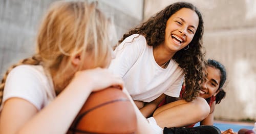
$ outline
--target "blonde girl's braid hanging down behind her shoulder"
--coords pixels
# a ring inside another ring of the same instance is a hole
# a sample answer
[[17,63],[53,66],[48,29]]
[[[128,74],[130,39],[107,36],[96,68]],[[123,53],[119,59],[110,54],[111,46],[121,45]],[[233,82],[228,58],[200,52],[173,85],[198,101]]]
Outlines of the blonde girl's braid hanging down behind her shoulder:
[[6,71],[6,73],[3,76],[2,82],[0,84],[0,106],[1,106],[2,100],[3,100],[3,93],[4,93],[6,78],[7,78],[8,74],[11,72],[11,70],[14,69],[18,65],[22,65],[22,64],[38,65],[40,62],[41,62],[40,56],[39,55],[34,55],[30,58],[20,60],[17,64],[12,65]]

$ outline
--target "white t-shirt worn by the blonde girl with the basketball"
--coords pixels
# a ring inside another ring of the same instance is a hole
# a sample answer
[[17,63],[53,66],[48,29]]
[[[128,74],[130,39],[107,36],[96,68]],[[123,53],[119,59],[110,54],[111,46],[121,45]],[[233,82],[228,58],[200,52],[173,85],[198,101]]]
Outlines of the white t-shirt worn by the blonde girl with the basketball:
[[52,79],[41,65],[18,65],[7,76],[0,110],[3,103],[13,97],[25,99],[41,110],[56,95]]

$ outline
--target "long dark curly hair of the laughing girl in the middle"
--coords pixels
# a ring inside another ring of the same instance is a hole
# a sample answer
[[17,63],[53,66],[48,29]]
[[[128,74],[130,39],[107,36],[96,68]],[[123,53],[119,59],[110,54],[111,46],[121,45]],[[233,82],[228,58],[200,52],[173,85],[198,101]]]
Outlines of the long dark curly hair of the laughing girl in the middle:
[[201,89],[200,83],[204,79],[205,57],[202,52],[203,19],[198,9],[190,3],[178,2],[167,6],[155,16],[149,18],[137,28],[123,35],[119,43],[132,34],[140,34],[146,38],[148,46],[159,46],[164,41],[166,22],[170,16],[182,8],[188,8],[195,11],[199,17],[199,24],[193,40],[188,44],[188,50],[176,52],[173,59],[179,63],[179,66],[185,72],[185,92],[183,93],[186,101],[196,99]]

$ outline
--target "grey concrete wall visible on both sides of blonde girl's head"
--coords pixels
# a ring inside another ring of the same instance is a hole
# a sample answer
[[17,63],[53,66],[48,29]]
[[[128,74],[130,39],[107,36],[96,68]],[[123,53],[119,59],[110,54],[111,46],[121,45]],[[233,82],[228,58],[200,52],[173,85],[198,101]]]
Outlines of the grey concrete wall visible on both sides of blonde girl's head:
[[[52,2],[0,0],[0,78],[10,65],[34,53],[40,19]],[[98,4],[114,20],[117,39],[142,19],[143,0],[99,0]]]

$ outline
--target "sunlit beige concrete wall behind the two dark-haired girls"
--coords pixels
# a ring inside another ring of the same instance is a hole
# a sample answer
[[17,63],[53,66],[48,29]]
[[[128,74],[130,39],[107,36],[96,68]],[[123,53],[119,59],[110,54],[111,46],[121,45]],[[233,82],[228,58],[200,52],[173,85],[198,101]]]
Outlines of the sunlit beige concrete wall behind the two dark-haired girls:
[[[145,19],[176,0],[145,0]],[[206,57],[226,66],[226,98],[215,118],[256,120],[256,1],[190,0],[203,15]]]

